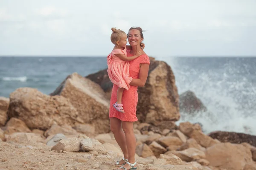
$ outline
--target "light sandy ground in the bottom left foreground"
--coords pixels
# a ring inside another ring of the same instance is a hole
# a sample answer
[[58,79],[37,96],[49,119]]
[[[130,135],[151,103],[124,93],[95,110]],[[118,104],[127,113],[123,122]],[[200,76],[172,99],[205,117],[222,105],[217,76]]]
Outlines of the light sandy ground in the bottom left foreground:
[[57,153],[36,143],[0,142],[0,170],[112,170],[113,156],[86,152]]

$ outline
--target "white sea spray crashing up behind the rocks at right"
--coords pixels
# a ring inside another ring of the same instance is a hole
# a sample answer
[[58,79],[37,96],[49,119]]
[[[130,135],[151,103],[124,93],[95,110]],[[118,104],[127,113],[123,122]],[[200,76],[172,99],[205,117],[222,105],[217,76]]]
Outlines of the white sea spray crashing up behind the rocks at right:
[[[158,59],[158,58],[157,58]],[[175,61],[175,58],[161,58],[167,62],[175,74],[178,93],[191,90],[201,99],[215,119],[207,114],[186,116],[180,113],[180,122],[201,123],[205,133],[215,130],[233,131],[256,135],[255,89],[246,78],[233,80],[230,74],[236,74],[234,65],[225,65],[223,72],[212,70],[198,72]],[[244,95],[250,99],[245,100]]]

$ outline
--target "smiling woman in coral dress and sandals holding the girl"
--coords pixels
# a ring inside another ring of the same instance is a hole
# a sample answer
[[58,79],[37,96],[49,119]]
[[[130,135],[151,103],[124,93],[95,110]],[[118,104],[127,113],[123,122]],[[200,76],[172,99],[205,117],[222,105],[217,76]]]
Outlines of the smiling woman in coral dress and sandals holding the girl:
[[125,90],[122,96],[125,113],[120,113],[113,108],[113,104],[116,102],[116,91],[118,88],[118,86],[113,85],[109,117],[111,131],[124,154],[123,159],[117,161],[116,165],[122,165],[119,167],[121,170],[137,170],[137,164],[135,162],[136,138],[133,129],[133,123],[138,120],[136,116],[138,102],[137,88],[138,86],[143,87],[145,85],[150,62],[149,57],[141,49],[141,43],[144,39],[142,29],[140,27],[131,27],[127,37],[131,45],[131,50],[127,50],[127,56],[134,56],[138,51],[141,51],[142,55],[129,62],[129,74],[133,80],[130,83],[129,90]]

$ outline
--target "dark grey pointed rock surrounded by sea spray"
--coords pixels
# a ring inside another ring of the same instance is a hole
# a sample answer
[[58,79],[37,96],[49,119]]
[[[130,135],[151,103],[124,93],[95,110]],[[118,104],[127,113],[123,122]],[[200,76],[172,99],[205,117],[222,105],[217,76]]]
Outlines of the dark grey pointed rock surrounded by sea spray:
[[180,94],[180,112],[193,114],[200,111],[206,112],[207,108],[201,100],[195,96],[195,93],[186,91],[183,94]]

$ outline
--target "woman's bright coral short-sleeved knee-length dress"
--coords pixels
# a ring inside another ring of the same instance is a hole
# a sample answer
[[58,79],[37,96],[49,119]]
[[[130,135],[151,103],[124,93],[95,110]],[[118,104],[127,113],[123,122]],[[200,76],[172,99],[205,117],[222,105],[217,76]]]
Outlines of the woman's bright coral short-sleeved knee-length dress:
[[[131,50],[127,50],[127,57],[131,57],[130,54]],[[132,60],[129,62],[129,74],[133,79],[139,78],[139,72],[140,72],[140,64],[150,64],[149,57],[146,54],[141,55],[140,57]],[[116,102],[116,92],[117,92],[117,85],[113,85],[112,88],[112,94],[110,99],[110,108],[109,108],[109,117],[116,117],[117,119],[120,119],[121,121],[125,122],[135,122],[138,120],[136,116],[137,111],[137,102],[138,102],[138,87],[137,86],[130,86],[129,90],[124,90],[122,95],[122,104],[124,105],[124,111],[125,113],[121,113],[116,111],[116,109],[113,107],[113,104]]]

